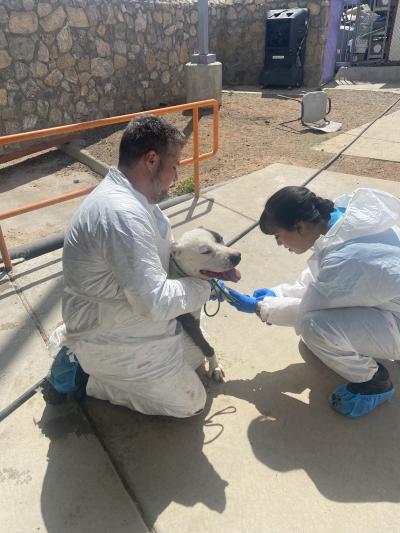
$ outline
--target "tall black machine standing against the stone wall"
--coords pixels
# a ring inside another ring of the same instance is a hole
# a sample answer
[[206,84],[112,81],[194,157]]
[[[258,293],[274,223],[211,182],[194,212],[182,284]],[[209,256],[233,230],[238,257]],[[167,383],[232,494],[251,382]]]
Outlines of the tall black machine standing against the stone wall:
[[308,9],[268,11],[263,87],[300,87],[303,83]]

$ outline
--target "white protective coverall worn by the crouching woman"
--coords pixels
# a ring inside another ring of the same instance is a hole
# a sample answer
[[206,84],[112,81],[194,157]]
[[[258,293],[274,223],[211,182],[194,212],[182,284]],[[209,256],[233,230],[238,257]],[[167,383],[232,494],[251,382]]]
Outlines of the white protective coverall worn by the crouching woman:
[[378,359],[400,359],[400,200],[358,189],[314,245],[294,285],[273,287],[261,320],[293,326],[308,348],[345,379],[361,383]]

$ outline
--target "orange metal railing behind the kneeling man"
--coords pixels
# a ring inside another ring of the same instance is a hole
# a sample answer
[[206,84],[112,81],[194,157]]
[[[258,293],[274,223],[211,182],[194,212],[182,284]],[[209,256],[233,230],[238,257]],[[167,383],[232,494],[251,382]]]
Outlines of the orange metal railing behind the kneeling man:
[[[199,142],[199,109],[202,107],[212,107],[213,109],[213,146],[212,150],[204,154],[200,154],[200,142]],[[149,111],[141,111],[139,113],[130,113],[128,115],[119,115],[116,117],[101,118],[98,120],[90,120],[88,122],[80,122],[77,124],[67,124],[66,126],[56,126],[54,128],[46,128],[37,131],[27,131],[24,133],[15,133],[13,135],[4,135],[0,137],[0,145],[12,144],[16,142],[31,141],[34,139],[41,139],[44,137],[50,137],[53,135],[67,134],[78,131],[85,131],[94,128],[101,128],[103,126],[110,126],[112,124],[122,124],[129,122],[130,120],[141,115],[168,115],[170,113],[179,113],[182,111],[192,110],[193,117],[193,155],[187,159],[183,159],[180,164],[188,165],[193,164],[194,173],[194,194],[198,198],[200,194],[200,161],[209,159],[218,152],[218,127],[219,127],[219,112],[217,100],[201,100],[200,102],[190,102],[188,104],[181,104],[177,106],[164,107],[161,109],[151,109]],[[29,211],[36,211],[44,207],[55,205],[61,202],[72,200],[89,194],[94,187],[86,187],[77,191],[69,192],[49,198],[48,200],[41,200],[32,204],[23,205],[14,209],[0,212],[0,220],[22,215]],[[12,269],[12,263],[10,254],[8,252],[7,244],[4,238],[3,231],[0,226],[0,253],[3,258],[4,267],[7,271]]]

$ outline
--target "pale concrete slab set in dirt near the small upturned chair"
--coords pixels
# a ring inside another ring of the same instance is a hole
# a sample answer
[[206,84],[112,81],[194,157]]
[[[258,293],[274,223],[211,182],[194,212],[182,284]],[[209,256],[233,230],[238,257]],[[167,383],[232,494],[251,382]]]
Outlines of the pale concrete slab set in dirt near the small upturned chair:
[[[346,131],[314,147],[315,150],[336,154],[354,140],[368,124]],[[368,157],[385,161],[400,162],[400,111],[382,117],[375,122],[346,151],[346,155]]]

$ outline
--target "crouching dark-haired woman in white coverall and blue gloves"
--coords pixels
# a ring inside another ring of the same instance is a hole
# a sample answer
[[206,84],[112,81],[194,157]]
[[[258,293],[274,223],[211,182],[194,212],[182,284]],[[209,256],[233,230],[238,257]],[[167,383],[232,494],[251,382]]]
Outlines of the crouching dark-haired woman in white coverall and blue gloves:
[[335,202],[305,187],[285,187],[265,205],[260,228],[279,246],[313,249],[294,285],[229,290],[239,311],[293,326],[328,367],[348,380],[331,395],[336,411],[369,413],[394,394],[387,369],[400,359],[400,200],[358,189]]

